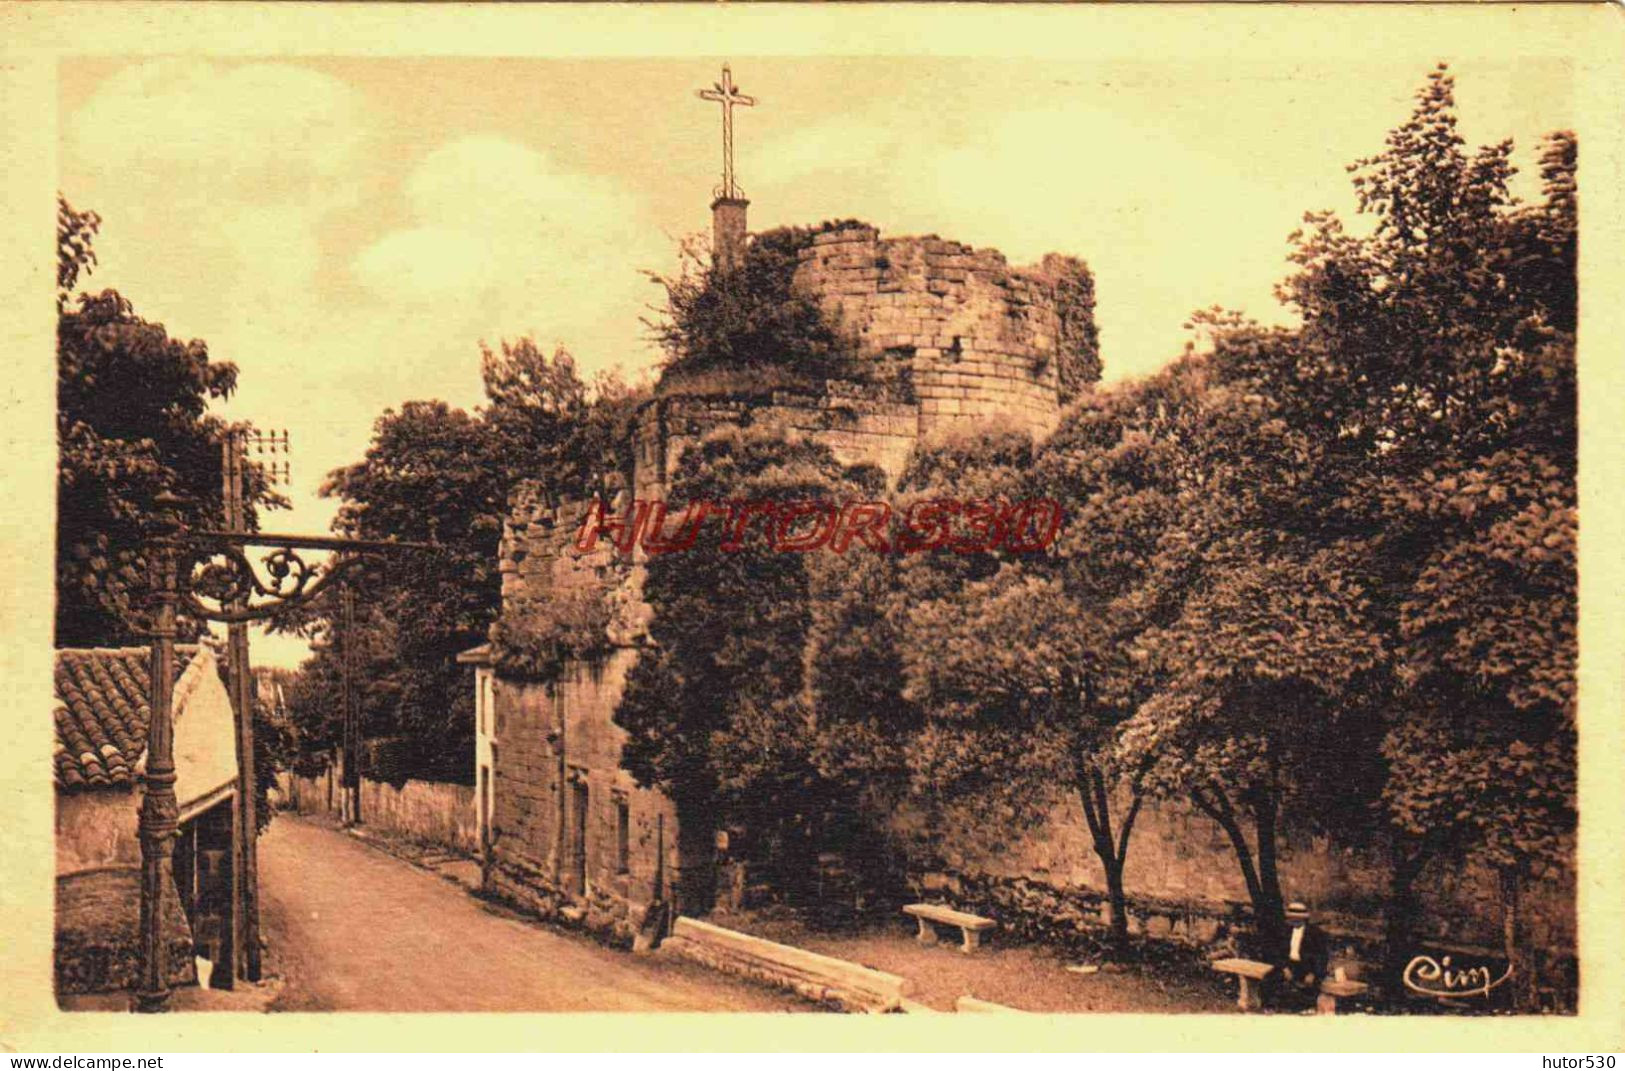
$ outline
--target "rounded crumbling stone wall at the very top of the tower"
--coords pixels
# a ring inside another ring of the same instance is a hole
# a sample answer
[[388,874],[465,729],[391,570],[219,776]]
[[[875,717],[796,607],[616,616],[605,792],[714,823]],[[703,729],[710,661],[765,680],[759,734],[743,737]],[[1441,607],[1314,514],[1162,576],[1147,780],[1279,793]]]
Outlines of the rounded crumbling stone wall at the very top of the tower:
[[962,416],[1045,432],[1060,419],[1061,320],[1042,270],[1011,268],[996,249],[848,226],[801,250],[793,284],[856,340],[860,359],[908,367],[921,432]]

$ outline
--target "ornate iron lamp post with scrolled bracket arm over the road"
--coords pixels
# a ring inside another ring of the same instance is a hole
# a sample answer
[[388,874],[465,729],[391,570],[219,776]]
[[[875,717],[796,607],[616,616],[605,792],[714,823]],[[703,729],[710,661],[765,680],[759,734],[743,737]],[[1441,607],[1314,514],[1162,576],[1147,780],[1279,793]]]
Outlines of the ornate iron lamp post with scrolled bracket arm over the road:
[[[367,557],[385,551],[436,549],[427,543],[344,540],[268,531],[187,531],[179,520],[182,499],[162,492],[148,544],[153,579],[153,663],[146,728],[146,788],[140,811],[141,840],[141,965],[136,1011],[162,1011],[169,1003],[169,949],[164,946],[164,892],[174,884],[174,847],[179,830],[174,757],[176,618],[247,624],[310,603],[328,585]],[[268,548],[262,579],[244,548]],[[333,551],[310,564],[299,551]],[[197,575],[208,567],[206,593]],[[252,790],[250,790],[252,791]],[[252,811],[250,811],[252,813]],[[250,835],[242,830],[242,835]]]

